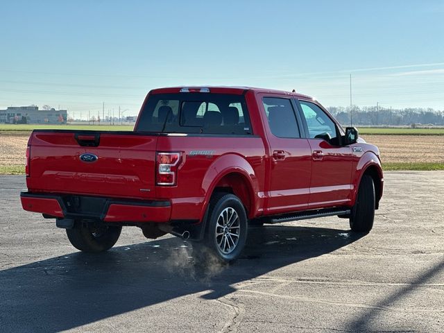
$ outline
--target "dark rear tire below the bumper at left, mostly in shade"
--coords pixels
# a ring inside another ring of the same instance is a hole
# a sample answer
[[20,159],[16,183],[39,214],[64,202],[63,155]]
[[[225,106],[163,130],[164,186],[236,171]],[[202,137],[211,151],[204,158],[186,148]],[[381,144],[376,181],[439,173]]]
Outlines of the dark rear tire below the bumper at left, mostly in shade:
[[76,221],[74,228],[67,229],[67,236],[74,248],[88,253],[109,250],[119,239],[121,226],[92,225]]

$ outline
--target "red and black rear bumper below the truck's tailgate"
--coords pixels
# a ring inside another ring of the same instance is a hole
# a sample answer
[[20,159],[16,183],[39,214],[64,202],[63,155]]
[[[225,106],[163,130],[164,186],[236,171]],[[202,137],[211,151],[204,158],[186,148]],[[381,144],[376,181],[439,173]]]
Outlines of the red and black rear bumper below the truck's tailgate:
[[168,200],[122,200],[92,196],[20,194],[28,212],[65,219],[93,219],[104,222],[165,223],[171,219]]

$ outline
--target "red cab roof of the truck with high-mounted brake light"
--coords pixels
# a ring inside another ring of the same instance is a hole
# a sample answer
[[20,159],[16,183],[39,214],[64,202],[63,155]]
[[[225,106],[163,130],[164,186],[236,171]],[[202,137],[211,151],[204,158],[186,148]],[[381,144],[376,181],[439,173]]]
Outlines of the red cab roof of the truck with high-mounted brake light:
[[178,94],[179,92],[188,92],[187,89],[189,89],[189,92],[210,92],[210,93],[212,92],[216,94],[236,94],[236,95],[241,95],[245,94],[248,91],[253,91],[253,92],[264,92],[269,94],[285,94],[289,96],[302,97],[304,99],[313,99],[311,96],[300,94],[298,92],[286,92],[284,90],[266,89],[258,87],[222,86],[222,85],[164,87],[164,88],[152,89],[150,94]]

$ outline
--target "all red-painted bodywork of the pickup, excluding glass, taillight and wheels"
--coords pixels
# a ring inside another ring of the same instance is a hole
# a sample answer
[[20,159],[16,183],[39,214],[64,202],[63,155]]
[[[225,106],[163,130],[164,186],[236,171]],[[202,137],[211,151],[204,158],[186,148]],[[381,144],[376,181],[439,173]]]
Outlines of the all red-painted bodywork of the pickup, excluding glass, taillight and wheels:
[[[176,94],[180,89],[152,90],[144,103],[150,94]],[[379,200],[383,176],[377,147],[364,143],[338,147],[322,139],[279,138],[271,133],[262,97],[307,100],[308,96],[249,87],[210,87],[210,93],[244,94],[253,135],[35,131],[28,143],[28,190],[36,194],[168,201],[169,207],[113,203],[104,217],[104,221],[117,223],[165,223],[202,221],[214,189],[229,187],[241,198],[248,217],[255,218],[351,207],[362,175],[375,168]],[[97,146],[80,146],[78,142],[96,137],[100,139]],[[354,146],[361,147],[362,152],[355,152]],[[324,153],[322,160],[313,157],[318,150]],[[273,157],[274,151],[282,151],[284,158]],[[176,185],[155,185],[156,152],[181,153]],[[98,159],[90,163],[80,160],[85,153]],[[56,199],[22,198],[22,205],[25,210],[63,217]]]

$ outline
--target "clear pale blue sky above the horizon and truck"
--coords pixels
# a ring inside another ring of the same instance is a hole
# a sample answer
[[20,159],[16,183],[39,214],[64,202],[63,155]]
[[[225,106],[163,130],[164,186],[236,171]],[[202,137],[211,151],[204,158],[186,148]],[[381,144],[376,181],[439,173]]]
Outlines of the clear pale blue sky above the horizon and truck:
[[[149,89],[444,110],[444,1],[2,1],[0,108],[137,114]],[[86,114],[84,112],[84,114]]]

